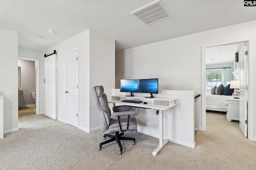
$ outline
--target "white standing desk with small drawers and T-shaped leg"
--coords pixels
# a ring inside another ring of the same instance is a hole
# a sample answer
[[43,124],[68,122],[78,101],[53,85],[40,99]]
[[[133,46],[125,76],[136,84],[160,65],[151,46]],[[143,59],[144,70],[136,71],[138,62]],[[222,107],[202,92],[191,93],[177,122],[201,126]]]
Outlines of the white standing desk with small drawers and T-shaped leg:
[[[164,111],[167,109],[170,109],[171,107],[176,106],[175,100],[176,99],[170,99],[170,98],[144,98],[140,96],[134,96],[134,97],[128,97],[128,96],[110,96],[111,100],[108,100],[109,103],[115,104],[122,104],[127,106],[133,106],[133,107],[142,107],[142,108],[148,108],[148,109],[156,109],[159,111],[159,146],[152,152],[153,156],[156,156],[156,154],[164,147],[164,145],[168,142],[168,139],[164,140]],[[135,104],[135,103],[127,103],[127,102],[121,102],[122,100],[134,100],[139,99],[143,102],[147,102],[148,104]]]

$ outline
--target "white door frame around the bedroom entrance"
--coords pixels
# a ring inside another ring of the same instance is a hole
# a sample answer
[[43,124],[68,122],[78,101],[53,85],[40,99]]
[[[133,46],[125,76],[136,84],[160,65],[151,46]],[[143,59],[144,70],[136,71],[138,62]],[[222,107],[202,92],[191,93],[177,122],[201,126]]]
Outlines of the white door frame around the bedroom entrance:
[[200,130],[206,131],[206,107],[205,107],[205,49],[209,47],[216,47],[216,46],[222,46],[222,45],[228,45],[228,44],[234,44],[234,43],[242,43],[242,42],[248,42],[248,139],[250,141],[254,141],[254,71],[253,71],[253,37],[248,37],[244,39],[236,39],[232,41],[227,41],[224,43],[213,43],[210,45],[202,45],[201,49],[201,65],[202,65],[202,75],[201,75],[201,82],[202,82],[202,128]]

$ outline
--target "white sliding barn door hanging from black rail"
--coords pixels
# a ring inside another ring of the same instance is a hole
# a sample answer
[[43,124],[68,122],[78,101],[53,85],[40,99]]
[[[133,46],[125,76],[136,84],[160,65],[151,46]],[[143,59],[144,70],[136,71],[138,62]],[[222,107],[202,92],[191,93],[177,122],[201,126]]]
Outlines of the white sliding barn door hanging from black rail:
[[45,115],[56,120],[56,54],[44,58]]

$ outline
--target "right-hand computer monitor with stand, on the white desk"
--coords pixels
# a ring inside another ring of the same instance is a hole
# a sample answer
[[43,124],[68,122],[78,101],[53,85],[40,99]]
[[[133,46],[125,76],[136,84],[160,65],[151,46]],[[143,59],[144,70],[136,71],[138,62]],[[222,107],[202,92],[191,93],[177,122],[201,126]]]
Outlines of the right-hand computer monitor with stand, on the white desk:
[[158,94],[158,78],[140,79],[140,93],[150,93],[145,98],[154,98],[152,94]]

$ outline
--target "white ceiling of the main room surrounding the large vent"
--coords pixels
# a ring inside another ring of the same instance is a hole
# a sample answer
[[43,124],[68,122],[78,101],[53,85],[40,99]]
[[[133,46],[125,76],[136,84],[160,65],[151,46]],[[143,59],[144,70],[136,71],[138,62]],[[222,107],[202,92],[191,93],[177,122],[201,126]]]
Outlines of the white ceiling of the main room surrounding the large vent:
[[256,20],[256,7],[242,0],[162,0],[173,17],[150,25],[130,14],[154,1],[0,0],[0,27],[18,32],[19,47],[40,51],[91,29],[115,39],[119,51]]

